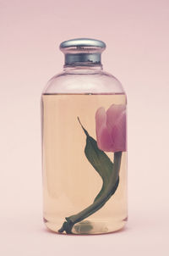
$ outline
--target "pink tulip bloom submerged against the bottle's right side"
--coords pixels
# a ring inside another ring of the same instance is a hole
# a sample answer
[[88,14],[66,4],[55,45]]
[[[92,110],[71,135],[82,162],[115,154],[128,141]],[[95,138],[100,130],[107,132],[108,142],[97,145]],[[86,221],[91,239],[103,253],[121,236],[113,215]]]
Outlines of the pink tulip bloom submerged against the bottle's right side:
[[97,109],[95,128],[98,147],[107,152],[126,151],[126,106]]

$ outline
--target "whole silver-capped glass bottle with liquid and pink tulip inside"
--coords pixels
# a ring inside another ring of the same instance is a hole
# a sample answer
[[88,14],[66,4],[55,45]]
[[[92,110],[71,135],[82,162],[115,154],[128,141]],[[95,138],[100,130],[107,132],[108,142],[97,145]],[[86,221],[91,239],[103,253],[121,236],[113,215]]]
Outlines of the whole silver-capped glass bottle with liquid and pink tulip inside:
[[63,72],[41,96],[44,222],[62,234],[103,234],[127,213],[126,94],[103,71],[106,44],[62,42]]

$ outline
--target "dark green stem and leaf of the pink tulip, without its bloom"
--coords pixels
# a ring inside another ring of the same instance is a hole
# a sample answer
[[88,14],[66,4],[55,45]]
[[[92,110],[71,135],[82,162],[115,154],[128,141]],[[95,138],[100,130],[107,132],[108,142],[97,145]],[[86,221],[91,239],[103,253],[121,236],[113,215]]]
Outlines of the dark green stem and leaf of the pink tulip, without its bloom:
[[74,214],[65,218],[67,221],[63,223],[63,226],[59,232],[66,231],[67,233],[71,233],[75,223],[85,220],[91,214],[94,214],[97,210],[101,209],[107,200],[116,192],[119,183],[119,170],[122,152],[114,153],[113,164],[106,153],[97,147],[97,142],[95,139],[89,135],[88,131],[85,130],[83,125],[81,126],[86,135],[85,156],[98,174],[101,175],[103,184],[101,191],[95,197],[94,203],[90,204],[89,207],[79,212],[79,214]]

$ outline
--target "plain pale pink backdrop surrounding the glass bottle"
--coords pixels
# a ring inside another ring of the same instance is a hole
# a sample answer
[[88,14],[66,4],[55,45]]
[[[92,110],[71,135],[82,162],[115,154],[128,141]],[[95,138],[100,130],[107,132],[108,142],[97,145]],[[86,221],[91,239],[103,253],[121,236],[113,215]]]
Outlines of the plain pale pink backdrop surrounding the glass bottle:
[[[0,19],[0,254],[169,255],[169,2],[1,0]],[[104,68],[128,92],[129,221],[112,235],[42,223],[41,91],[74,37],[106,42]]]

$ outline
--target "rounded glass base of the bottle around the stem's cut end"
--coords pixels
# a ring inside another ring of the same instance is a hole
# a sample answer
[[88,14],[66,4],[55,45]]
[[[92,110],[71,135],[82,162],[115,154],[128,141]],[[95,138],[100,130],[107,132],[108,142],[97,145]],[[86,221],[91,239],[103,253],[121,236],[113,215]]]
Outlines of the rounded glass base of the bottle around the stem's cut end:
[[[63,225],[63,223],[59,222],[51,222],[44,219],[44,222],[46,224],[46,227],[53,232],[56,232],[58,234],[64,234],[66,233],[60,233],[58,230]],[[118,220],[118,221],[111,221],[111,220],[84,220],[79,223],[76,223],[73,226],[71,235],[101,235],[101,234],[108,234],[115,231],[122,230],[124,225],[127,223],[127,218],[124,220]]]

